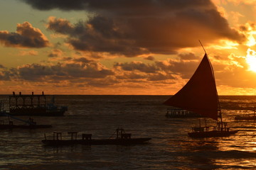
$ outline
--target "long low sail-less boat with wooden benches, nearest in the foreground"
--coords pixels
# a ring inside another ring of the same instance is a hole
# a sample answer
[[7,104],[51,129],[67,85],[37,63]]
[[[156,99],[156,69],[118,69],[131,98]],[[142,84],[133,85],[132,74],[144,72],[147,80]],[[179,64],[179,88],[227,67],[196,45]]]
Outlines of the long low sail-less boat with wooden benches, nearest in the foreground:
[[53,132],[53,139],[48,140],[45,134],[45,140],[42,140],[46,146],[63,146],[63,145],[139,145],[151,140],[149,137],[131,138],[130,133],[125,133],[124,129],[117,128],[115,139],[92,139],[92,134],[82,134],[82,139],[78,140],[78,132],[68,132],[71,135],[70,140],[62,139],[62,132]]

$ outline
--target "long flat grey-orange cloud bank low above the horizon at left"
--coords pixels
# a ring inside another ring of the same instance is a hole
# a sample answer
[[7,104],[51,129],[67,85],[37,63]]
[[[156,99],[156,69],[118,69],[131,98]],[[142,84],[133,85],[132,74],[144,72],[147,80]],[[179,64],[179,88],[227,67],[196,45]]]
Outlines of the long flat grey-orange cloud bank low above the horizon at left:
[[42,64],[25,64],[16,70],[18,79],[27,81],[71,80],[86,78],[105,78],[113,75],[110,69],[105,69],[101,64],[90,62],[80,64],[73,60],[72,63],[55,64],[46,66]]

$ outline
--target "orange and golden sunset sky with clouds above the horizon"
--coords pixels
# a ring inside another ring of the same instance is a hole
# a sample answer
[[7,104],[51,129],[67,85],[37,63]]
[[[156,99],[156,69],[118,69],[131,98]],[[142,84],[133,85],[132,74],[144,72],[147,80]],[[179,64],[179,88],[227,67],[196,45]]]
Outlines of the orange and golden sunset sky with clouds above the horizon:
[[1,0],[0,94],[172,95],[203,58],[256,95],[256,0]]

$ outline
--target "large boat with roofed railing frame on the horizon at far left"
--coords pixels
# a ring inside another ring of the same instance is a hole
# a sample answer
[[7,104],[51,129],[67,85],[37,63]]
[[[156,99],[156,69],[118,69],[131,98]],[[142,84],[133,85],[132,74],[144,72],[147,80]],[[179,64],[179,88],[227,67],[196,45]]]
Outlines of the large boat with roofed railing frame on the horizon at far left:
[[10,115],[39,115],[39,116],[63,116],[68,106],[56,106],[55,98],[47,103],[46,95],[42,92],[40,95],[23,95],[21,92],[9,96],[9,114]]

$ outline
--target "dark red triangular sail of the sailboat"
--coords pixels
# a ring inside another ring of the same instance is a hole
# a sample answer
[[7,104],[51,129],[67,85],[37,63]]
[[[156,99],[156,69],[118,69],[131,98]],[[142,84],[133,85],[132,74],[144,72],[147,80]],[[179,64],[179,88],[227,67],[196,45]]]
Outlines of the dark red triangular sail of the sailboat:
[[207,54],[188,83],[164,104],[218,120],[218,93]]

